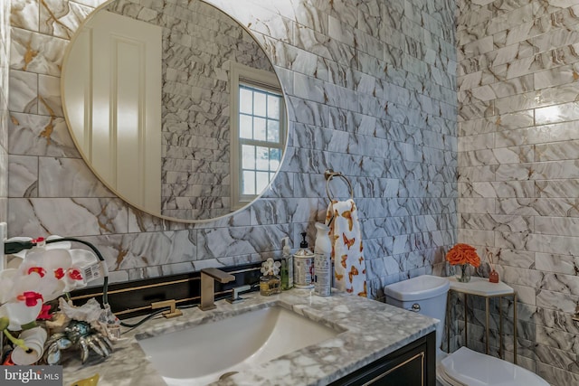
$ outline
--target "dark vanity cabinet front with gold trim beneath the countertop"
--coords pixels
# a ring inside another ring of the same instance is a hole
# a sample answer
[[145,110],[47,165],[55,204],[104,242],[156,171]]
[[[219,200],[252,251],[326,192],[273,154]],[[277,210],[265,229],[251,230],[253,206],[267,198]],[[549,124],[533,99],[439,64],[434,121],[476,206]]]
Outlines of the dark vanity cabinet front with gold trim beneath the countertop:
[[435,386],[435,345],[432,332],[330,385]]

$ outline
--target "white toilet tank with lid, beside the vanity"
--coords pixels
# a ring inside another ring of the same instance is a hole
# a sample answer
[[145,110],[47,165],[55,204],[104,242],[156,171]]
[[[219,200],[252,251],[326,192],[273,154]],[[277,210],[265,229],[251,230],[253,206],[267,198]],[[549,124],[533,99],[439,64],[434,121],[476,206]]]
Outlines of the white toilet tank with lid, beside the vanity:
[[440,347],[449,287],[451,283],[447,278],[422,275],[385,286],[384,294],[389,305],[412,309],[417,304],[419,314],[440,320],[436,326],[436,347]]

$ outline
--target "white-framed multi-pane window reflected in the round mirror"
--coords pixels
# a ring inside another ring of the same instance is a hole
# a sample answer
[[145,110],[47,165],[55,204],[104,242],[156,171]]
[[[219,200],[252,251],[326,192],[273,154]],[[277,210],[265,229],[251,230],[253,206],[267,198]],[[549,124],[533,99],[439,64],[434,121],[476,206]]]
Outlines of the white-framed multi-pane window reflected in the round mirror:
[[232,71],[232,205],[261,194],[285,146],[285,106],[275,74],[235,63]]

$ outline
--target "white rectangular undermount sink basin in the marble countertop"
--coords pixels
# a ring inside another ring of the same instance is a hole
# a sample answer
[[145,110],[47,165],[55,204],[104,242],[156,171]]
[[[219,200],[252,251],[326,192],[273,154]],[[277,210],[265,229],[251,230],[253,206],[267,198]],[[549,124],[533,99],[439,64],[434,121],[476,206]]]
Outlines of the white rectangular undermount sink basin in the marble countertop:
[[168,385],[204,385],[340,334],[282,306],[139,339]]

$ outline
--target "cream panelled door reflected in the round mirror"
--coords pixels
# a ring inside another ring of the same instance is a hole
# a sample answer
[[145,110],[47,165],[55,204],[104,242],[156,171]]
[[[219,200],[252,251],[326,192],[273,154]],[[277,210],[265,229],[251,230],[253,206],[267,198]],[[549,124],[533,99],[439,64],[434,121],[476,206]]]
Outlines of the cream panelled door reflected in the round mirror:
[[161,39],[157,25],[101,11],[63,72],[69,126],[92,169],[129,202],[159,213]]

